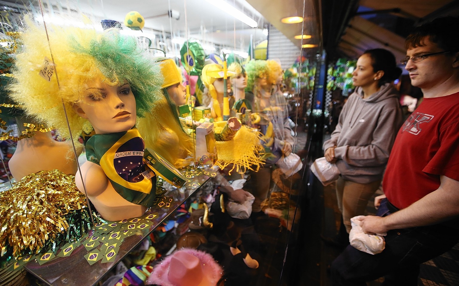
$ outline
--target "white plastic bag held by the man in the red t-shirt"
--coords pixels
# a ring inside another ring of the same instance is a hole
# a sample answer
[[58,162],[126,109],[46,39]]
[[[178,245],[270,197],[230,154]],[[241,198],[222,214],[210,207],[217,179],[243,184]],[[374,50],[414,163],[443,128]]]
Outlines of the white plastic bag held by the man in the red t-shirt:
[[354,248],[369,254],[381,253],[386,247],[384,236],[386,236],[387,233],[365,233],[362,227],[360,227],[360,221],[358,220],[361,217],[363,216],[354,216],[351,218],[352,229],[351,232],[349,232],[349,243],[351,243]]

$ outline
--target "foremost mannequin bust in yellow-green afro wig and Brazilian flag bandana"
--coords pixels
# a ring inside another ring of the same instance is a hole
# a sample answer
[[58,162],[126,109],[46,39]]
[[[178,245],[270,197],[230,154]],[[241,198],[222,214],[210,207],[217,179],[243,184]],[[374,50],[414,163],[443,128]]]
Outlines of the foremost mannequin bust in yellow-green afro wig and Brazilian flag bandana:
[[159,67],[118,30],[45,30],[30,16],[24,22],[12,99],[63,137],[94,128],[85,146],[88,161],[75,177],[78,189],[106,220],[141,216],[154,203],[156,177],[143,161],[135,123],[161,100]]

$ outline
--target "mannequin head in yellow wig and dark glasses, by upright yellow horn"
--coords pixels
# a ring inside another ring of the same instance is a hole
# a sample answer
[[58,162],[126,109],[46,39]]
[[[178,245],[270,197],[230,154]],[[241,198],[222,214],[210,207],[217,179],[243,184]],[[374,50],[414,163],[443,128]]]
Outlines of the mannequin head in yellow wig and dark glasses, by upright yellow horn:
[[[234,73],[228,71],[228,76]],[[202,69],[201,81],[204,84],[204,93],[202,94],[202,105],[210,108],[214,121],[223,120],[223,93],[227,88],[231,89],[231,82],[227,86],[223,84],[223,66],[218,64],[207,64]],[[230,104],[231,106],[231,104]]]

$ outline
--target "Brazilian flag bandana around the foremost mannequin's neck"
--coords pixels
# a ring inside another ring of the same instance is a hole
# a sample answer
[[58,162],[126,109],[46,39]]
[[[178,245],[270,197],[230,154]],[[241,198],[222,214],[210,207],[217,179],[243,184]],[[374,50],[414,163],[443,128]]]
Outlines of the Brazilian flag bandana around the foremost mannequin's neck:
[[153,205],[156,176],[144,162],[145,143],[137,128],[93,135],[85,147],[88,161],[102,167],[118,194],[136,205]]

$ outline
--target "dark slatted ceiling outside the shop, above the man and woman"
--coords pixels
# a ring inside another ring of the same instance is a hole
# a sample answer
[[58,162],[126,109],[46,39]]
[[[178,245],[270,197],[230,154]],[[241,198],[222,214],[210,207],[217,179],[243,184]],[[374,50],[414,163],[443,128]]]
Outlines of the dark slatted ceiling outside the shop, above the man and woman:
[[[438,16],[459,15],[458,0],[322,0],[325,49],[332,57],[358,58],[367,49],[390,50],[405,57],[411,29]],[[327,9],[328,8],[328,9]],[[334,19],[340,21],[333,22]]]

